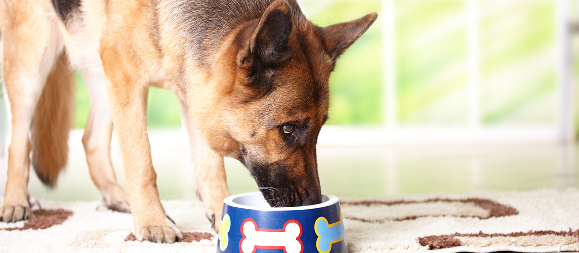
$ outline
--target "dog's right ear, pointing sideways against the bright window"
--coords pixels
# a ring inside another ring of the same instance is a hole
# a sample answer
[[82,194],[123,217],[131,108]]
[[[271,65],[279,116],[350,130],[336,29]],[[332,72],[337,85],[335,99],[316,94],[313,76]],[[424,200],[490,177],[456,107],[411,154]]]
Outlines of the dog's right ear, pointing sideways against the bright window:
[[364,32],[368,31],[376,19],[378,19],[378,13],[375,12],[357,20],[321,28],[320,35],[328,55],[336,60]]

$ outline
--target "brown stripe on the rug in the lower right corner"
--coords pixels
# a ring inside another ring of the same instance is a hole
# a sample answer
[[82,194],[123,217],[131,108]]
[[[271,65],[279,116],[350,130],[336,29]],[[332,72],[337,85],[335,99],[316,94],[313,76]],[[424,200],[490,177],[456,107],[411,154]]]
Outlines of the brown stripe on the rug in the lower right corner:
[[[441,236],[425,236],[418,238],[420,245],[427,247],[430,250],[442,250],[444,248],[454,248],[463,246],[459,237],[470,237],[470,238],[493,238],[493,237],[508,237],[509,241],[516,241],[517,237],[521,238],[524,236],[557,236],[557,237],[574,237],[579,238],[579,230],[573,231],[569,229],[567,232],[556,232],[552,230],[539,230],[539,231],[529,231],[529,232],[514,232],[508,234],[485,234],[479,232],[478,234],[444,234]],[[541,246],[541,245],[537,245]],[[546,246],[546,245],[545,245]]]

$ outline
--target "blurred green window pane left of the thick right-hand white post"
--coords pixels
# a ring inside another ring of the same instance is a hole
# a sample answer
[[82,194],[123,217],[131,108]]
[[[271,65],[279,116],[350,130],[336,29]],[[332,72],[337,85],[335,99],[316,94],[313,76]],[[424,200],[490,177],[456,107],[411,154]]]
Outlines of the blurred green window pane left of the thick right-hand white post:
[[555,1],[522,1],[482,9],[483,122],[556,124]]

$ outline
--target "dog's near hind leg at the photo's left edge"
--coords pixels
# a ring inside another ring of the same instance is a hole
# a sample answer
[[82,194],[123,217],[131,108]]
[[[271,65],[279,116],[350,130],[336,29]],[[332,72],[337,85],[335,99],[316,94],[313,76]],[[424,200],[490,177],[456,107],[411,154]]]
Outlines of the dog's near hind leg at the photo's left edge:
[[54,61],[63,57],[63,44],[48,1],[0,1],[0,20],[2,74],[12,112],[8,180],[0,216],[1,221],[15,222],[31,216],[28,133]]

